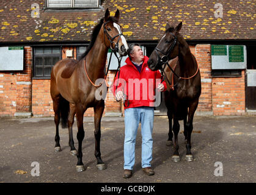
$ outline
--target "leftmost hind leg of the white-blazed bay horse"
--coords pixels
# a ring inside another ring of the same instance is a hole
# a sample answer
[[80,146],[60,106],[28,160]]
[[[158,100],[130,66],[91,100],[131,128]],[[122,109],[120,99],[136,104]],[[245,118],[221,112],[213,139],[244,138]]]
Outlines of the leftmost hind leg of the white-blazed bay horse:
[[61,151],[61,147],[59,144],[59,140],[60,140],[60,137],[59,137],[59,123],[60,123],[59,99],[60,99],[59,96],[57,96],[56,98],[53,98],[54,122],[55,122],[55,126],[56,126],[55,147],[54,147],[55,152]]

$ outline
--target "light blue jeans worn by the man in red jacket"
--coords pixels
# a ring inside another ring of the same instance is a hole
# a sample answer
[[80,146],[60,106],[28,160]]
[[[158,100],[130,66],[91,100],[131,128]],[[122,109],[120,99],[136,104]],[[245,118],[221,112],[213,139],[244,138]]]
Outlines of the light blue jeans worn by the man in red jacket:
[[124,169],[133,170],[135,163],[135,143],[137,128],[141,122],[141,135],[142,135],[142,168],[151,166],[152,161],[152,131],[154,121],[154,108],[153,107],[135,107],[125,109],[125,143],[123,148]]

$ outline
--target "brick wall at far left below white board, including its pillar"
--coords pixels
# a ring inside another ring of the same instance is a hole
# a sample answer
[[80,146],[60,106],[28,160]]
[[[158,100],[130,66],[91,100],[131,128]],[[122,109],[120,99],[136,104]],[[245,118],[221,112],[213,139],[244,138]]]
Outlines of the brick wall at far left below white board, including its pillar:
[[0,116],[31,116],[32,48],[24,47],[23,71],[0,73]]

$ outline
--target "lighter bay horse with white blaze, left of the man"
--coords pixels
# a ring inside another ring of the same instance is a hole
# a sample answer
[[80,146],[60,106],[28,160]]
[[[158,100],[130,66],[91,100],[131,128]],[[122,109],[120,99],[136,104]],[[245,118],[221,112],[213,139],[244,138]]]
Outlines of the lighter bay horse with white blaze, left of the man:
[[[93,107],[95,124],[95,157],[97,168],[106,169],[100,152],[100,124],[104,110],[104,99],[95,98],[99,87],[105,85],[104,68],[108,49],[126,55],[128,45],[122,30],[118,24],[120,12],[117,10],[114,17],[110,16],[107,9],[104,18],[94,27],[89,48],[81,59],[62,59],[53,66],[51,71],[51,98],[53,99],[54,122],[56,124],[56,136],[54,151],[59,152],[60,137],[59,123],[62,127],[68,127],[69,146],[71,155],[77,155],[78,163],[76,171],[81,172],[86,168],[82,163],[82,140],[84,139],[83,118],[87,108]],[[98,79],[103,80],[98,83]],[[106,75],[105,75],[106,78]],[[96,83],[96,84],[95,84]],[[74,116],[76,114],[78,126],[78,151],[74,146],[73,130]]]

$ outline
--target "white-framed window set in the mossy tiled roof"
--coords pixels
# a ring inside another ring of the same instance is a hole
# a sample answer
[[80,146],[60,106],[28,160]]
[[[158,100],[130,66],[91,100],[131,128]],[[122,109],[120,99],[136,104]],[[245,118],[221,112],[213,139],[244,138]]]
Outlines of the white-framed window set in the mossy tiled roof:
[[46,0],[50,9],[79,9],[98,8],[100,0]]

